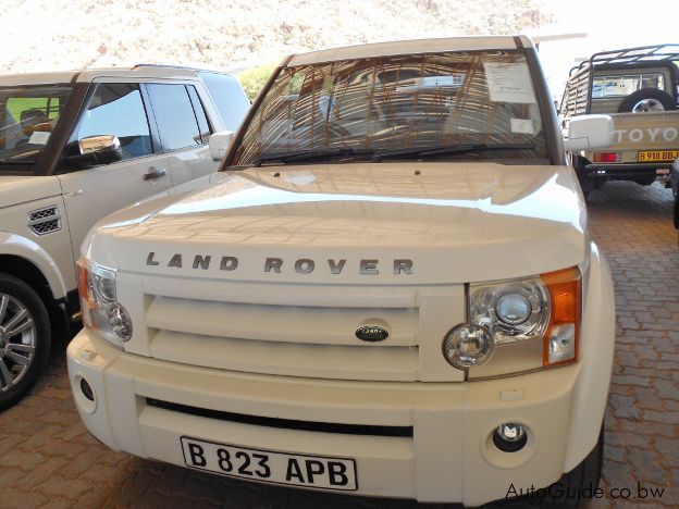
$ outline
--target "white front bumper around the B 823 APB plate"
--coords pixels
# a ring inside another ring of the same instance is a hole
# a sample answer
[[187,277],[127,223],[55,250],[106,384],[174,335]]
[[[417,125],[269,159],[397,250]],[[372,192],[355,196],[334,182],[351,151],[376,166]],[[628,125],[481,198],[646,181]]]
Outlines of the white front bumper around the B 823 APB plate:
[[[354,458],[368,496],[464,501],[503,498],[509,486],[546,486],[564,471],[580,365],[473,383],[319,382],[220,372],[124,353],[87,330],[69,347],[69,372],[87,429],[115,450],[184,465],[181,436]],[[84,398],[79,380],[94,388]],[[147,398],[280,419],[412,426],[412,437],[344,435],[229,422],[153,407]],[[506,421],[530,430],[502,452]]]

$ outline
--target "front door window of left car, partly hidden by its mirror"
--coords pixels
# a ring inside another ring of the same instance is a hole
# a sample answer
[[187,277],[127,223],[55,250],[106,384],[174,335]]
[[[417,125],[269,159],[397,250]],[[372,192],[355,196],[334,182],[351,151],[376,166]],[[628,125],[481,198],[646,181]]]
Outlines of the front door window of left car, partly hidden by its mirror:
[[118,136],[123,160],[153,152],[138,85],[107,83],[97,86],[78,126],[77,139],[97,135]]

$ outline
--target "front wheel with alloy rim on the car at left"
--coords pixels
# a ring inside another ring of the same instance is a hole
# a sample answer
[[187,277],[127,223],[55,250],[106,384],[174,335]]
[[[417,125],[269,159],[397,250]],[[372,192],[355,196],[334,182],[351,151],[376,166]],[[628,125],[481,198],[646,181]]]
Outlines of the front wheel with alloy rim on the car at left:
[[42,372],[50,349],[50,322],[38,294],[0,273],[0,411],[22,399]]

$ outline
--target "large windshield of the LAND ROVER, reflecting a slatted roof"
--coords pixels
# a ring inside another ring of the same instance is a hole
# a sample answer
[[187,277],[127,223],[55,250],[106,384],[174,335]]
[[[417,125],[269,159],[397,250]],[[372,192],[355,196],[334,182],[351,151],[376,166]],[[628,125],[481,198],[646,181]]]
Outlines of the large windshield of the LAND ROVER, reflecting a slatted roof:
[[314,156],[317,162],[548,158],[530,70],[518,50],[282,69],[232,164]]

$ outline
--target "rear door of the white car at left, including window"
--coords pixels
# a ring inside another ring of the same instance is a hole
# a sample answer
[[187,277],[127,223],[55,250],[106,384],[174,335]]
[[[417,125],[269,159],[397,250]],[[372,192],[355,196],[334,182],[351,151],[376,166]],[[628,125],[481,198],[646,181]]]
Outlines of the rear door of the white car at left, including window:
[[217,172],[210,156],[210,125],[193,84],[146,85],[160,141],[168,157],[172,185]]

